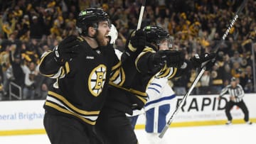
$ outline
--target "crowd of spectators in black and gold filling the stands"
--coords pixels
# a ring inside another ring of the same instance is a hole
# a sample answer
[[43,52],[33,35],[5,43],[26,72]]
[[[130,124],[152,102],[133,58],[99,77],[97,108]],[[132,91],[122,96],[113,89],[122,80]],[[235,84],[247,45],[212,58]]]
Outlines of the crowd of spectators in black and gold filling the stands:
[[[21,99],[45,99],[53,79],[39,74],[39,59],[67,35],[78,35],[75,23],[79,11],[88,7],[107,11],[119,32],[114,46],[123,50],[129,33],[137,28],[143,0],[0,1],[0,99],[9,99],[10,92],[20,95]],[[151,24],[169,31],[174,49],[182,50],[189,60],[195,53],[213,50],[241,2],[146,1],[142,27]],[[256,1],[247,2],[225,43],[220,45],[213,69],[203,74],[193,94],[218,94],[231,77],[240,79],[245,92],[254,92],[255,7]],[[171,79],[176,94],[186,92],[197,72],[191,70],[183,77]]]

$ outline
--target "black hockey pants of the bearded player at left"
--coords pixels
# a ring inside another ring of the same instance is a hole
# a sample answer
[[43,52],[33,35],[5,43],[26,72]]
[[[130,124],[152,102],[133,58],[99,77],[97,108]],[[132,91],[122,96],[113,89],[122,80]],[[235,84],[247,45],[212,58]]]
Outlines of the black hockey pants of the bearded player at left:
[[94,126],[73,116],[45,113],[43,125],[51,144],[101,144]]

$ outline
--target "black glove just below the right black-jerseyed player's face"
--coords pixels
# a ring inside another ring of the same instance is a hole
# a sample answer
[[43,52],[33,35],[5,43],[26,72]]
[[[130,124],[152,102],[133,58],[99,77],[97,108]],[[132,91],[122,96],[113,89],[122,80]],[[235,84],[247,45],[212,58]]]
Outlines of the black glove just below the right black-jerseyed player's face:
[[177,50],[165,50],[167,56],[167,67],[178,67],[180,68],[185,61],[185,55],[181,51]]

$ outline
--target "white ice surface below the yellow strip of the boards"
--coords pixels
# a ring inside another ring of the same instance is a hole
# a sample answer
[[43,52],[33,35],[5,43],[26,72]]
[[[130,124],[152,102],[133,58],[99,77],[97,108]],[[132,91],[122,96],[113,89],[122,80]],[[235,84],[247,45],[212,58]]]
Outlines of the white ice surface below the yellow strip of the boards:
[[[169,128],[165,144],[255,144],[256,124]],[[144,130],[136,130],[139,144],[149,144]],[[47,135],[0,136],[1,144],[50,144]]]

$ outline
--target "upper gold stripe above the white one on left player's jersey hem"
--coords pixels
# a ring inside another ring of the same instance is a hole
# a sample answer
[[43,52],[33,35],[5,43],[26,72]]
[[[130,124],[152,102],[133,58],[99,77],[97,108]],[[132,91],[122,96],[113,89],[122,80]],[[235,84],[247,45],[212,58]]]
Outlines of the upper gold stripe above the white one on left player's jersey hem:
[[85,115],[91,115],[91,114],[98,115],[100,113],[100,111],[84,111],[84,110],[78,109],[75,106],[73,106],[73,104],[70,104],[70,102],[67,99],[65,99],[63,96],[61,96],[60,94],[57,94],[55,92],[49,91],[48,94],[50,94],[51,96],[55,96],[56,98],[60,99],[61,101],[63,101],[63,103],[65,103],[67,106],[70,107],[70,109],[72,109],[75,112],[82,113],[82,114],[85,114]]

